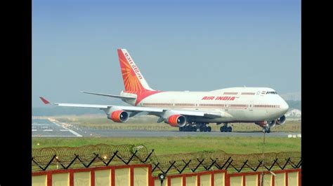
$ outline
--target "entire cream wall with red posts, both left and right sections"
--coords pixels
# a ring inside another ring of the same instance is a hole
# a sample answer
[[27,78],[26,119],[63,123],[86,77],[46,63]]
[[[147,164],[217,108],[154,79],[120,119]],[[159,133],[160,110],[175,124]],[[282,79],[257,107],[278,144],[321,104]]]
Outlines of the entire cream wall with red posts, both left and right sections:
[[[36,186],[159,186],[160,180],[152,177],[150,164],[103,166],[88,169],[68,169],[32,173]],[[226,170],[202,171],[167,175],[164,186],[259,186],[261,172],[228,173]],[[263,185],[300,186],[301,169],[268,171],[263,174]]]

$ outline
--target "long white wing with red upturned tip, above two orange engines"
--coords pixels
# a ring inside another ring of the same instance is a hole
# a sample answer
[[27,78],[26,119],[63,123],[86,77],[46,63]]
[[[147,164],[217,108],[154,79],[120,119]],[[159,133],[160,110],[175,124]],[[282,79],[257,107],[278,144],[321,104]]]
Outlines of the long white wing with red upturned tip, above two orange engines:
[[221,112],[211,112],[211,111],[202,111],[202,110],[174,110],[174,109],[165,109],[165,108],[155,108],[155,107],[141,107],[141,106],[113,106],[113,105],[96,105],[96,104],[80,104],[80,103],[51,103],[44,99],[44,97],[39,97],[44,104],[53,104],[56,106],[70,106],[70,107],[84,107],[84,108],[100,108],[101,110],[106,110],[108,108],[117,108],[120,110],[125,110],[129,112],[148,112],[155,114],[163,114],[167,110],[171,110],[174,113],[188,116],[199,116],[199,117],[223,117],[224,113]]

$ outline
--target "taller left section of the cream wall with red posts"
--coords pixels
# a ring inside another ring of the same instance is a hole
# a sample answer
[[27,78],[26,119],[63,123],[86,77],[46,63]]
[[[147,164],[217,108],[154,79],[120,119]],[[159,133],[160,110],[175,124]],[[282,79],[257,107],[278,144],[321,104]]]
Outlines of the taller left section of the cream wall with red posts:
[[61,169],[32,173],[34,186],[139,186],[154,185],[150,164]]

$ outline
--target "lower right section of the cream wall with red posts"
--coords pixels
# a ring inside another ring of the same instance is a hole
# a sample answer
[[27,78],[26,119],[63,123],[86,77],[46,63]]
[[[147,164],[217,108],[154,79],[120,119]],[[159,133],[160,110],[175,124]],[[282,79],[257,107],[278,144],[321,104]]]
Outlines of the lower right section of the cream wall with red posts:
[[[275,176],[265,171],[263,174],[263,185],[269,186],[300,186],[301,169],[289,169],[283,171],[272,171]],[[167,175],[164,185],[174,186],[259,186],[261,183],[261,172],[249,173],[227,173],[225,170],[203,171],[198,173],[183,173],[178,175]],[[155,186],[160,181],[155,179]]]

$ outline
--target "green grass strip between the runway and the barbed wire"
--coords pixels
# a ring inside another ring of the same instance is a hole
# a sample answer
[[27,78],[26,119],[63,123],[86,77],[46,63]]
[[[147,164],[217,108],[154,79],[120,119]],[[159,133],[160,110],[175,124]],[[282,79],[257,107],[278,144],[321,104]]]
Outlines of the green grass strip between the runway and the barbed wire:
[[[39,145],[37,145],[39,143]],[[249,154],[261,153],[263,138],[259,137],[211,137],[207,135],[194,137],[150,137],[150,138],[32,138],[32,148],[53,146],[77,147],[81,145],[143,144],[148,150],[155,150],[156,155],[216,151],[227,153]],[[301,151],[300,138],[266,138],[265,152]]]

